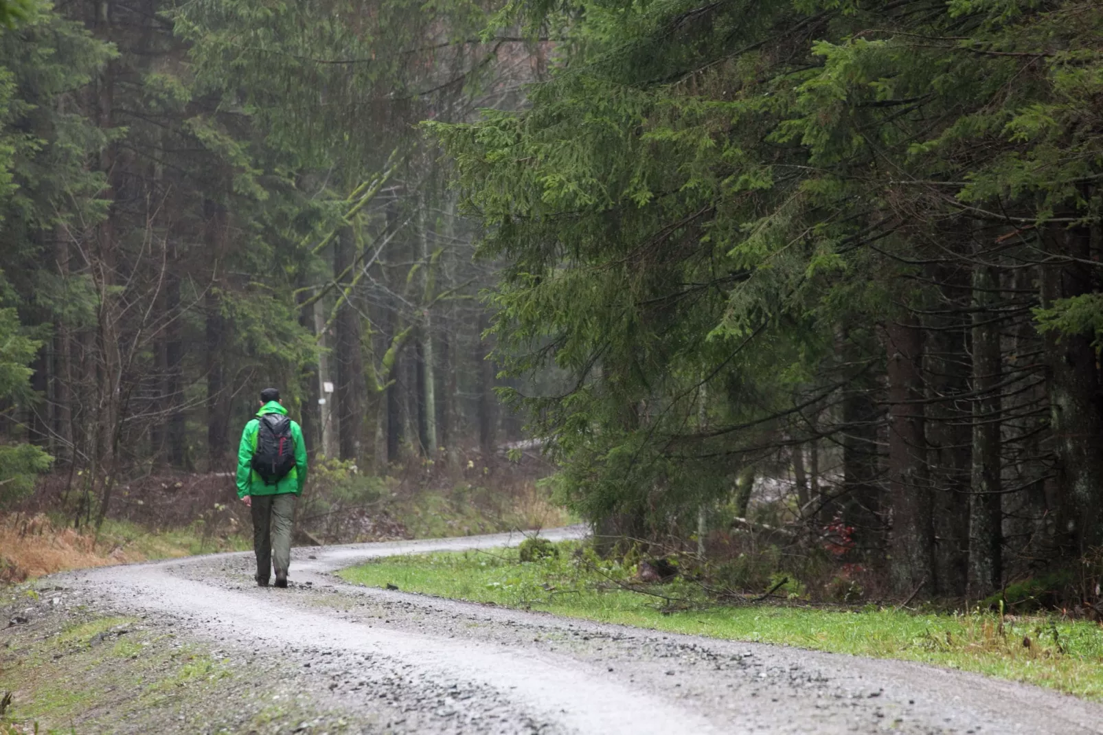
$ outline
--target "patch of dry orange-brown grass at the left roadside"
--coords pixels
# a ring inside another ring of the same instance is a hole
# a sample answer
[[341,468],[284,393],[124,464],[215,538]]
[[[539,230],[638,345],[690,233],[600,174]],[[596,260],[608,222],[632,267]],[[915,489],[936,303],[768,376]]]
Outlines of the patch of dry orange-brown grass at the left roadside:
[[97,542],[93,533],[58,529],[42,514],[0,516],[0,582],[140,561],[141,554]]

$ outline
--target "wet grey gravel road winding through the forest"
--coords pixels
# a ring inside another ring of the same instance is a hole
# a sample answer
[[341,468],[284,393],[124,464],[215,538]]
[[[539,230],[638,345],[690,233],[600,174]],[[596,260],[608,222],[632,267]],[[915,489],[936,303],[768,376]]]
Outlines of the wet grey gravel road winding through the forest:
[[251,554],[63,580],[101,609],[143,616],[250,665],[279,662],[291,672],[282,689],[345,713],[346,732],[1103,733],[1101,705],[973,674],[370,589],[331,574],[375,556],[520,540],[298,548],[289,589],[253,585]]

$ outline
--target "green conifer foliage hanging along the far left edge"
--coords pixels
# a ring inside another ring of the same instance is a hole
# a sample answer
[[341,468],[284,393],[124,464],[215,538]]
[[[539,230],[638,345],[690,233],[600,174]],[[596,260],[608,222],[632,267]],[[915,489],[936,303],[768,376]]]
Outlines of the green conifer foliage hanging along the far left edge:
[[[50,330],[23,327],[14,305],[71,323],[86,323],[96,307],[88,279],[39,265],[43,232],[93,225],[104,213],[104,177],[87,158],[106,137],[58,99],[84,88],[113,51],[42,3],[0,6],[0,23],[15,19],[18,28],[0,32],[0,401],[22,407],[38,400],[28,365]],[[34,300],[21,298],[28,292]],[[52,461],[40,447],[0,441],[0,505],[29,492]]]

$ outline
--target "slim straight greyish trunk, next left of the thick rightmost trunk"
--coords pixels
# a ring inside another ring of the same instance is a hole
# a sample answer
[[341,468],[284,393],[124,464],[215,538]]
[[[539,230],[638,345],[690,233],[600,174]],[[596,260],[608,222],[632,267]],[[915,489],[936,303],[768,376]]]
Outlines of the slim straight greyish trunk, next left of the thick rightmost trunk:
[[968,585],[979,599],[1003,578],[1003,523],[999,459],[999,274],[995,266],[973,268],[973,468],[970,493]]

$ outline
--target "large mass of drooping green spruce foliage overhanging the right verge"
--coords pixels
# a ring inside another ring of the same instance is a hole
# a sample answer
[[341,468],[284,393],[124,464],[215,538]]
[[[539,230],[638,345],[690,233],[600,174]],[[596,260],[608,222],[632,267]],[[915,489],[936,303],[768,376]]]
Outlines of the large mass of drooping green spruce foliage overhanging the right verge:
[[[952,223],[1097,223],[1103,13],[622,4],[578,3],[526,109],[427,127],[482,254],[507,263],[499,360],[574,380],[511,396],[563,462],[560,497],[642,532],[728,497],[808,430],[810,396],[882,360],[868,328],[931,308],[915,264]],[[556,8],[515,10],[554,25]],[[1099,333],[1101,311],[1092,295],[1039,316]]]

